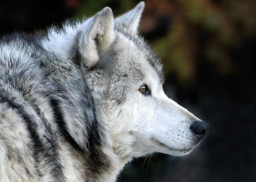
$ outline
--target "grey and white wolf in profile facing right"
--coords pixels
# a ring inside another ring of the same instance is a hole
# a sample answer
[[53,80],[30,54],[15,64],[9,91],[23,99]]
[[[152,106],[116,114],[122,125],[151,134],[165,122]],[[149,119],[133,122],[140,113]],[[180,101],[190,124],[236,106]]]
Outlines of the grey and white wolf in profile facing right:
[[143,8],[1,38],[0,181],[115,181],[135,157],[198,146],[208,126],[164,94]]

